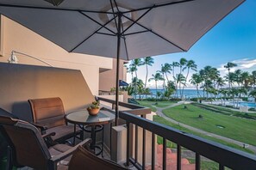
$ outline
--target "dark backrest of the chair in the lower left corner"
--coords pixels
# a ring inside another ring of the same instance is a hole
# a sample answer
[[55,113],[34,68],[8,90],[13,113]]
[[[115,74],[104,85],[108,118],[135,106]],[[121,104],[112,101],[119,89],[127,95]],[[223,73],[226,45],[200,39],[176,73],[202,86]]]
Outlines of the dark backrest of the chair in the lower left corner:
[[47,169],[51,155],[40,131],[28,122],[0,116],[0,125],[8,136],[18,165],[34,169]]

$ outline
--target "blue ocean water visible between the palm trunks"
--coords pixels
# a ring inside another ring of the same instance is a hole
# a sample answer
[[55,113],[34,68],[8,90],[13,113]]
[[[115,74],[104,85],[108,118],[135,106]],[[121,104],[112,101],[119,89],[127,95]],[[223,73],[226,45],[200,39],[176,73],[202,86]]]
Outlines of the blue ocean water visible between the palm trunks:
[[[158,92],[164,92],[165,90],[163,89],[163,88],[158,88]],[[149,95],[147,95],[147,98],[149,98],[149,97],[155,97],[155,95],[156,95],[156,89],[155,88],[150,88],[150,92],[152,93],[152,94],[149,94]],[[176,93],[178,93],[178,97],[180,97],[180,90],[178,89],[178,90],[176,90]],[[177,96],[177,94],[172,94],[172,97],[176,97]],[[199,90],[199,94],[201,95],[201,96],[203,96],[203,90]],[[197,89],[184,89],[184,98],[185,99],[188,99],[188,98],[194,98],[194,97],[197,97]],[[135,96],[134,96],[135,97]],[[145,95],[140,95],[140,97],[142,98],[142,99],[145,99],[146,98],[146,96]],[[139,98],[139,95],[137,95],[136,96],[136,98],[138,99]]]

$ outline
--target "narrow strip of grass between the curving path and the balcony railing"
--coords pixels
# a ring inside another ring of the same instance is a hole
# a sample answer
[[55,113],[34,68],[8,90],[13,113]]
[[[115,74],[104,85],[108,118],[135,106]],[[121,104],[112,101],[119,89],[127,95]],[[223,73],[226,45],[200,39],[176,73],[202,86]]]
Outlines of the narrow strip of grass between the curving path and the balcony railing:
[[[153,121],[158,122],[158,123],[160,123],[160,124],[168,125],[168,126],[170,126],[170,127],[172,127],[172,128],[178,129],[179,131],[184,131],[184,132],[186,132],[186,133],[190,133],[190,134],[196,135],[196,136],[198,136],[198,137],[203,137],[203,138],[205,138],[205,139],[209,139],[209,140],[214,141],[214,142],[216,142],[216,143],[222,143],[222,144],[224,144],[224,145],[226,145],[226,146],[229,146],[229,147],[231,147],[231,148],[234,148],[234,149],[240,149],[240,150],[245,151],[245,152],[247,152],[247,153],[254,154],[253,151],[250,150],[250,149],[244,149],[244,148],[242,148],[241,146],[236,145],[236,144],[234,144],[234,143],[228,143],[228,142],[226,142],[226,141],[222,141],[222,140],[217,139],[217,138],[215,138],[215,137],[209,137],[209,136],[203,135],[203,134],[198,133],[198,132],[195,132],[195,131],[190,131],[189,129],[186,129],[186,128],[184,128],[183,126],[180,126],[180,125],[178,125],[178,124],[173,124],[173,123],[169,122],[168,120],[166,120],[165,118],[161,118],[161,117],[159,117],[159,116],[153,116]],[[158,137],[158,138],[157,138],[157,142],[158,142],[159,144],[162,144],[162,143],[163,143],[162,137]],[[167,147],[169,147],[169,148],[176,148],[176,144],[175,144],[175,143],[170,143],[170,142],[168,141],[168,142],[167,142]]]

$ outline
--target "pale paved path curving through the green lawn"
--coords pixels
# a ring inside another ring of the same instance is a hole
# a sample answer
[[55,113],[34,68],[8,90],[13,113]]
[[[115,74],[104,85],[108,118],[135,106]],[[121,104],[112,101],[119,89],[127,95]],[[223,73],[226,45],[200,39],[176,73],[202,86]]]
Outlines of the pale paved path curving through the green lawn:
[[[190,103],[190,102],[186,102],[186,103]],[[182,104],[184,104],[184,102],[175,103],[175,104],[172,104],[170,106],[165,106],[165,107],[156,107],[156,109],[157,109],[156,113],[160,117],[165,118],[166,120],[172,122],[173,124],[179,124],[179,125],[183,126],[184,128],[187,128],[187,129],[189,129],[191,131],[196,131],[198,133],[201,133],[203,135],[207,135],[209,137],[215,137],[215,138],[221,139],[223,141],[226,141],[228,143],[234,143],[234,144],[237,144],[237,145],[242,146],[242,147],[246,146],[247,149],[251,149],[251,150],[253,150],[254,153],[256,153],[256,147],[255,146],[249,145],[247,143],[241,143],[239,141],[235,141],[234,139],[230,139],[228,137],[222,137],[222,136],[216,135],[214,133],[210,133],[208,131],[202,131],[202,130],[194,128],[194,127],[192,127],[190,125],[183,124],[183,123],[180,123],[180,122],[178,122],[178,121],[176,121],[176,120],[174,120],[172,118],[169,118],[169,117],[165,116],[165,114],[163,113],[163,110],[165,110],[167,108],[171,108],[173,106],[178,106],[178,105],[182,105]]]

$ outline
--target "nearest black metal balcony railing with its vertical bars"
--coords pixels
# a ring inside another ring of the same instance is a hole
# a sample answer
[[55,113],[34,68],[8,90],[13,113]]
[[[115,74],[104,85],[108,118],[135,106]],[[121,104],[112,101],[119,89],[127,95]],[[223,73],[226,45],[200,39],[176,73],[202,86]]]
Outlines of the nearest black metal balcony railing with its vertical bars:
[[[132,163],[134,167],[138,169],[145,169],[145,157],[147,155],[147,150],[145,146],[146,131],[152,132],[152,158],[151,158],[151,168],[155,168],[155,137],[163,137],[163,160],[162,168],[166,169],[166,141],[171,141],[177,144],[177,170],[182,167],[181,164],[181,148],[189,149],[196,153],[195,169],[199,170],[201,167],[201,157],[204,156],[211,161],[215,161],[219,164],[219,169],[222,170],[225,167],[231,169],[239,170],[255,170],[256,169],[256,156],[250,155],[237,149],[232,149],[224,146],[220,143],[211,142],[209,140],[203,139],[202,137],[197,137],[191,134],[178,131],[172,127],[166,126],[164,124],[159,124],[146,118],[140,118],[128,112],[121,112],[120,118],[126,120],[128,132],[127,132],[127,160],[126,163]],[[134,127],[135,126],[135,127]],[[138,161],[138,127],[142,128],[142,162]],[[131,140],[133,134],[131,129],[135,129],[135,142]],[[134,146],[133,146],[134,143]],[[134,153],[133,148],[134,147]]]

